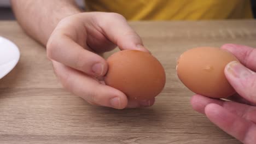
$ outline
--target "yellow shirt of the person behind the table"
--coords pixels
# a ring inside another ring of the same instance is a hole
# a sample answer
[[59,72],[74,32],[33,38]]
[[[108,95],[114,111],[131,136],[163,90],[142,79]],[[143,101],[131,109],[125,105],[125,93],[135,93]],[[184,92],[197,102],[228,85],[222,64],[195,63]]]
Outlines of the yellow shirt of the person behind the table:
[[86,10],[119,13],[127,20],[252,18],[249,0],[85,0]]

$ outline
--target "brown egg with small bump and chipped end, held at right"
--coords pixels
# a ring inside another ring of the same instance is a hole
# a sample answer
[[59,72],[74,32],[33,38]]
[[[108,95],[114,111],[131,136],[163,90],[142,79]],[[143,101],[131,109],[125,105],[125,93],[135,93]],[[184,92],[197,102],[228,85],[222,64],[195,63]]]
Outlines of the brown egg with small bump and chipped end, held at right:
[[226,98],[235,93],[226,80],[224,68],[238,61],[232,53],[215,47],[197,47],[185,51],[177,62],[179,79],[196,94]]

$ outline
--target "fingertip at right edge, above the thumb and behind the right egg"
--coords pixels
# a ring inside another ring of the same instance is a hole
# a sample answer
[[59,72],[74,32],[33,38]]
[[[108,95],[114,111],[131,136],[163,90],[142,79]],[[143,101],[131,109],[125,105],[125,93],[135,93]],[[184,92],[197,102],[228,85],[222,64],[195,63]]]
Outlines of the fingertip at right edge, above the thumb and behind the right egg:
[[243,65],[256,71],[256,49],[235,44],[225,44],[221,48],[230,51]]

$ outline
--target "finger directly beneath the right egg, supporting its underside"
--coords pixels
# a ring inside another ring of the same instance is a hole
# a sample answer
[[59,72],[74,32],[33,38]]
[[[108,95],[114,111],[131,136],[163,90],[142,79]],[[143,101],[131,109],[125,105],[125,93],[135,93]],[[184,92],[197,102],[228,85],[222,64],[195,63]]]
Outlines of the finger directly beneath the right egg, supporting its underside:
[[203,114],[205,114],[205,107],[208,104],[218,104],[224,107],[224,109],[230,111],[231,113],[234,113],[237,116],[246,118],[249,121],[256,123],[256,107],[253,106],[235,103],[233,101],[212,99],[208,97],[203,97],[202,95],[194,95],[191,98],[190,103],[194,110]]

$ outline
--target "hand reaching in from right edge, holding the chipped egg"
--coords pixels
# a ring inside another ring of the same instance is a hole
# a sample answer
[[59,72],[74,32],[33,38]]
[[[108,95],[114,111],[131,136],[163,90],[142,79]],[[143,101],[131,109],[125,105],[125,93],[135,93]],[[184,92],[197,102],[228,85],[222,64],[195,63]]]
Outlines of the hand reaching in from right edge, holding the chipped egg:
[[[225,67],[225,76],[237,94],[226,100],[202,95],[191,98],[193,109],[203,113],[226,133],[246,144],[256,143],[256,49],[225,44],[222,49],[233,53],[241,62]],[[245,65],[245,66],[244,66]]]

